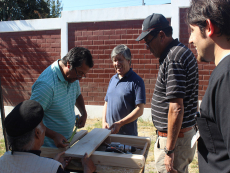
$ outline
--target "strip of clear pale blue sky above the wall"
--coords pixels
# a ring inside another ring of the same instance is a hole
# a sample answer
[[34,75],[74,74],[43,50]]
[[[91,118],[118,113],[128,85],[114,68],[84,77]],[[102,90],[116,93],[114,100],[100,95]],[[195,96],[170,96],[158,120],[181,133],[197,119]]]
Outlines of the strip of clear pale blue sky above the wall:
[[[63,11],[141,6],[143,0],[62,0]],[[171,0],[144,0],[145,5],[171,3]]]

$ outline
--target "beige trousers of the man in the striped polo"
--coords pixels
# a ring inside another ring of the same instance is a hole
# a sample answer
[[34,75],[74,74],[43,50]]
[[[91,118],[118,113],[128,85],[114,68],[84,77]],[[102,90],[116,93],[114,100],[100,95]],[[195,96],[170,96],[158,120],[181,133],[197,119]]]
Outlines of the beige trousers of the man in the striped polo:
[[[196,145],[191,148],[192,137],[196,134],[195,129],[184,133],[183,138],[178,138],[174,150],[173,167],[178,173],[188,173],[188,165],[192,162]],[[158,136],[154,145],[154,157],[158,173],[167,173],[164,165],[167,137]]]

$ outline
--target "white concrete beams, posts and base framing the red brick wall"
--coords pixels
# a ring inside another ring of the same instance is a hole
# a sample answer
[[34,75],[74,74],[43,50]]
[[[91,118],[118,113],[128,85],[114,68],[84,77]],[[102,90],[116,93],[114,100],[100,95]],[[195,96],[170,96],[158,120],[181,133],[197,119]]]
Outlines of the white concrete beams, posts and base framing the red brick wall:
[[[108,9],[64,11],[62,12],[61,18],[0,22],[0,33],[60,29],[61,57],[63,57],[68,52],[68,23],[139,19],[144,20],[148,15],[151,15],[152,13],[161,13],[166,18],[171,18],[171,25],[173,27],[173,37],[179,38],[179,8],[188,7],[189,2],[189,0],[171,0],[171,4],[163,5],[145,5]],[[103,106],[87,105],[86,109],[89,118],[102,117]],[[8,113],[11,110],[11,106],[5,106],[6,115],[8,115]],[[76,114],[78,114],[77,109]],[[150,108],[145,108],[142,118],[144,120],[151,120]]]

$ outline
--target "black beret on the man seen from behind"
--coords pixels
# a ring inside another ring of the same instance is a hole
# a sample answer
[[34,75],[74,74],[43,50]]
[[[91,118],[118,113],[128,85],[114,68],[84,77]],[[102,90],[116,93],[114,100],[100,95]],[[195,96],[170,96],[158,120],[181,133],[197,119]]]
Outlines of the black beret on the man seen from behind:
[[20,137],[37,127],[43,116],[43,108],[38,102],[21,102],[5,118],[6,133],[10,137]]

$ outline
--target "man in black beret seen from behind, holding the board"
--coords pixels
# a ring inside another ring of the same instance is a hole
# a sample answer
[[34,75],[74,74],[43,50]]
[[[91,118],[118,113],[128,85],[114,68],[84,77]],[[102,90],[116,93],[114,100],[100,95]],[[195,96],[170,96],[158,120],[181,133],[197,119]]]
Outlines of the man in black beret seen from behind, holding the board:
[[[46,127],[43,124],[42,106],[33,100],[18,104],[6,117],[6,128],[9,148],[0,158],[0,172],[10,173],[64,173],[70,158],[63,158],[59,153],[54,159],[40,157],[40,147],[44,142]],[[82,160],[88,171],[94,165],[87,156]]]

